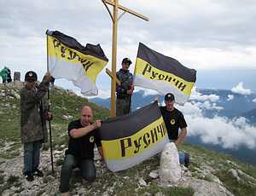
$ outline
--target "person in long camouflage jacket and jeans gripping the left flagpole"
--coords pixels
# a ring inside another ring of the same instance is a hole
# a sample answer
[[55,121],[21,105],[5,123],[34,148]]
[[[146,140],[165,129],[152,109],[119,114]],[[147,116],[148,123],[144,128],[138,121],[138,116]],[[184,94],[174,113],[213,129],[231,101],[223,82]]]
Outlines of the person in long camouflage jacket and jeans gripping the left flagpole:
[[20,137],[24,144],[23,173],[27,181],[33,181],[33,176],[44,176],[43,172],[38,170],[38,166],[40,148],[42,143],[48,141],[46,120],[52,117],[44,101],[44,95],[52,79],[47,72],[36,88],[37,73],[26,72],[26,86],[20,90]]

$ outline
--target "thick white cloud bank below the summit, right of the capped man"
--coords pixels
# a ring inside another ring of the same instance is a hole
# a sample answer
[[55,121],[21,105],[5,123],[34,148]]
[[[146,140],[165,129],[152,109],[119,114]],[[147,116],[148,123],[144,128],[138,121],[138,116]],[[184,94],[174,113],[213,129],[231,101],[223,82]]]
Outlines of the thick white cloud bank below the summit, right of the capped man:
[[189,135],[199,137],[204,143],[224,148],[256,148],[256,127],[247,124],[246,118],[205,118],[200,104],[186,103],[178,107],[187,121]]

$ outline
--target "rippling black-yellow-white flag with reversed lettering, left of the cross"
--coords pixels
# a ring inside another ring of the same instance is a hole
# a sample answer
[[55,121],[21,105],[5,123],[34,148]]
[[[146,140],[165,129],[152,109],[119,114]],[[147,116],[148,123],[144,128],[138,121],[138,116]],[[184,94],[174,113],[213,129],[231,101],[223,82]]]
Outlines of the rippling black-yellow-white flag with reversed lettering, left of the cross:
[[108,63],[99,44],[84,47],[75,38],[61,32],[47,31],[49,72],[54,78],[66,78],[83,95],[97,95],[96,77]]

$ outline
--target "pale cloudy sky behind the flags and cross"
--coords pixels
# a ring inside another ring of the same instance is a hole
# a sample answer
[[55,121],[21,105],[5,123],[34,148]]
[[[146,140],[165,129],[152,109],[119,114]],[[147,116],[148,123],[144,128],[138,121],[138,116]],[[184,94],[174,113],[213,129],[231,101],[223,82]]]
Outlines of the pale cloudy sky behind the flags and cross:
[[[148,16],[119,20],[118,69],[123,57],[135,61],[139,42],[197,70],[198,88],[232,89],[239,83],[256,91],[256,2],[254,0],[119,0]],[[0,66],[46,71],[45,31],[58,30],[80,43],[100,43],[111,65],[112,23],[101,0],[0,0]],[[120,13],[119,13],[120,14]],[[133,71],[134,64],[131,66]],[[109,89],[105,72],[97,78]],[[67,81],[56,81],[73,88]]]

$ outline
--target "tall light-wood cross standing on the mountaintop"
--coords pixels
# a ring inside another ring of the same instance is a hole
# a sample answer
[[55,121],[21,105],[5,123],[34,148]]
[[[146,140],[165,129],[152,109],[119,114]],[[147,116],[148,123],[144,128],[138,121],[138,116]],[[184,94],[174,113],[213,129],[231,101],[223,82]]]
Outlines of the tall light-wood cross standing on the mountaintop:
[[[137,12],[127,9],[122,5],[119,5],[119,0],[102,0],[106,9],[108,10],[108,14],[110,15],[112,22],[113,22],[113,36],[112,36],[112,72],[106,69],[106,72],[111,77],[111,109],[110,109],[110,117],[115,117],[115,89],[117,84],[116,78],[116,55],[117,55],[117,26],[118,21],[120,18],[127,12],[129,14],[133,14],[140,19],[149,20],[147,17],[143,16],[142,14],[138,14]],[[111,13],[108,5],[113,6],[113,14]],[[123,10],[124,12],[118,16],[119,9]]]

